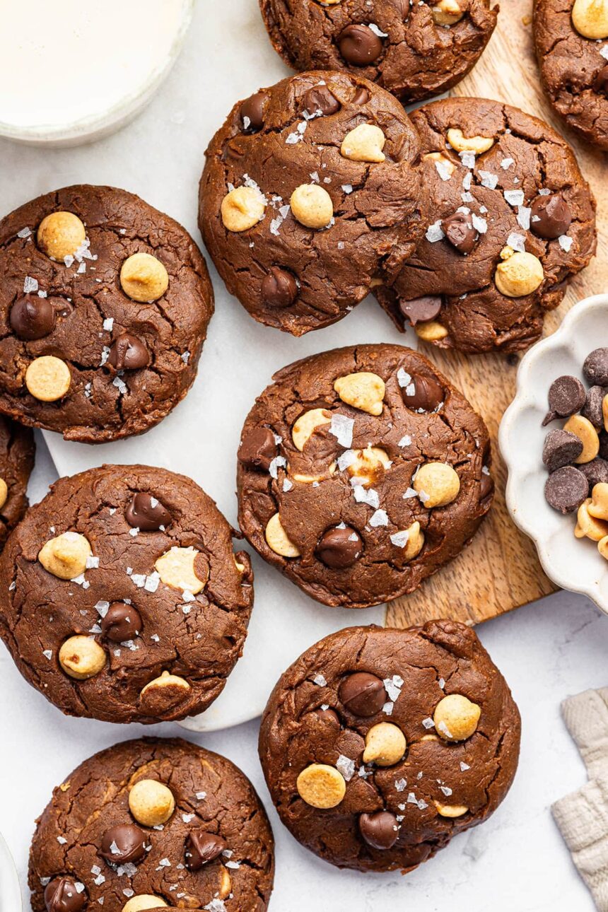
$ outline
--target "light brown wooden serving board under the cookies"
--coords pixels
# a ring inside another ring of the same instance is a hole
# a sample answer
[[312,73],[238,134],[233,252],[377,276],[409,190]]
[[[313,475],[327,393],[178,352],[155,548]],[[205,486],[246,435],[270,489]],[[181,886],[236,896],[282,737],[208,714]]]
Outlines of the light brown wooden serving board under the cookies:
[[[531,0],[502,0],[499,24],[472,73],[453,94],[505,101],[546,120],[572,143],[582,173],[598,204],[598,251],[592,264],[575,275],[565,299],[545,320],[545,335],[583,297],[608,291],[608,155],[576,140],[555,117],[543,96],[534,56]],[[421,346],[424,350],[425,347]],[[531,540],[511,522],[505,503],[506,469],[497,435],[500,419],[515,392],[519,358],[505,355],[468,357],[426,347],[483,415],[493,443],[493,475],[497,483],[492,510],[469,548],[411,596],[387,609],[386,624],[407,627],[429,617],[452,617],[477,624],[555,591],[541,570]]]

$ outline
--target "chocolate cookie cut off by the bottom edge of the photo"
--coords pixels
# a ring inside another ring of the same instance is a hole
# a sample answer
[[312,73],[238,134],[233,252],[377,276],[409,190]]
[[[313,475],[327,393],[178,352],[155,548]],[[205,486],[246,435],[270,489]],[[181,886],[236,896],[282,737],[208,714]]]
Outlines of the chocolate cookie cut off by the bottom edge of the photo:
[[55,789],[30,851],[32,909],[263,912],[273,852],[263,805],[232,762],[179,738],[124,741]]

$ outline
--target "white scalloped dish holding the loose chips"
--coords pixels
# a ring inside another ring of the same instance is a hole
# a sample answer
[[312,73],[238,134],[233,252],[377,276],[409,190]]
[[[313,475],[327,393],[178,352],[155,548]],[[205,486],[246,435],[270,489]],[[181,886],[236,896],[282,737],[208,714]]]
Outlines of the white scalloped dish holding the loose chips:
[[[594,348],[608,345],[608,295],[585,298],[562,326],[521,359],[515,398],[500,422],[499,446],[509,470],[507,506],[513,522],[529,535],[550,579],[562,589],[593,599],[608,614],[608,562],[593,542],[574,537],[576,515],[562,516],[544,498],[547,471],[542,444],[548,428],[551,382],[562,374],[583,379],[582,363]],[[585,384],[587,385],[587,384]],[[550,427],[559,427],[554,422]]]

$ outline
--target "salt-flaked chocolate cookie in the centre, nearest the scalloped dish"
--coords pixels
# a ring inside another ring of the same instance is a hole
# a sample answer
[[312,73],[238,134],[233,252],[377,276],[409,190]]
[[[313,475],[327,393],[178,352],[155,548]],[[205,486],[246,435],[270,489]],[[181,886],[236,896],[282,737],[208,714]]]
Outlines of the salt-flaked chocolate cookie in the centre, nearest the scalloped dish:
[[279,371],[239,450],[239,523],[309,596],[361,608],[412,592],[492,502],[489,436],[417,352],[338,348]]

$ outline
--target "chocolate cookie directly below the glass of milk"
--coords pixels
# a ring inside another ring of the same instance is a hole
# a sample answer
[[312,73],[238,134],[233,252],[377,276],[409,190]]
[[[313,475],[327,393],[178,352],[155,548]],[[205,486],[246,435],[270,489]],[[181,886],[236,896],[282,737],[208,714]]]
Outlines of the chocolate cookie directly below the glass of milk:
[[191,236],[112,187],[0,222],[0,411],[99,443],[158,424],[196,376],[213,312]]

